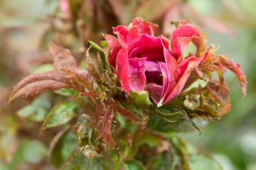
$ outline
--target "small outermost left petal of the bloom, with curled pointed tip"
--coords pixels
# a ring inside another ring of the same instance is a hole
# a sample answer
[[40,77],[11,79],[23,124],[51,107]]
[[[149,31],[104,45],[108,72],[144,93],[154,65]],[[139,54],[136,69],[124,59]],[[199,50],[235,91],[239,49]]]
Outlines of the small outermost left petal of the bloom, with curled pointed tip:
[[108,57],[108,61],[111,65],[115,65],[116,59],[117,59],[117,53],[120,50],[120,42],[117,38],[115,38],[112,35],[103,34],[103,37],[105,38],[105,41],[108,42],[108,47],[111,48],[110,55]]

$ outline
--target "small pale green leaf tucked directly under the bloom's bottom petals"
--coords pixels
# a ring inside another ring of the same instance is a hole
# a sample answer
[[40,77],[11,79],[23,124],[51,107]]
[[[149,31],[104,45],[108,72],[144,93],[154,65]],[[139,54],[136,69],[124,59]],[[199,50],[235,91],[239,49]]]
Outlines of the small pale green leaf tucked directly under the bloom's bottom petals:
[[148,92],[143,90],[141,92],[136,92],[136,91],[132,91],[131,92],[131,97],[133,102],[136,103],[136,105],[152,105],[149,96],[148,96]]

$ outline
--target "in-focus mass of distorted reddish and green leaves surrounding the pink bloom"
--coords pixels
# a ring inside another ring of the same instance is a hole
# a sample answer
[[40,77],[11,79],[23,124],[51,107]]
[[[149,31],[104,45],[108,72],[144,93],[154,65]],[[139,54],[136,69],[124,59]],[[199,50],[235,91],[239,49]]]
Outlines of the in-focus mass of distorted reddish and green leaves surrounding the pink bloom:
[[[199,129],[196,119],[220,119],[227,113],[226,68],[236,74],[245,94],[246,79],[239,65],[216,56],[210,48],[206,61],[190,75],[184,93],[157,108],[146,91],[124,94],[105,50],[92,41],[88,44],[84,68],[69,50],[50,44],[54,69],[21,80],[9,98],[11,102],[44,90],[67,96],[49,114],[45,114],[49,108],[41,108],[37,99],[19,111],[30,120],[43,120],[42,132],[63,127],[50,144],[53,165],[62,169],[205,169],[197,165],[206,159],[207,167],[221,169],[197,150],[188,149],[175,134]],[[214,71],[219,80],[213,80]],[[191,88],[197,80],[207,85]]]

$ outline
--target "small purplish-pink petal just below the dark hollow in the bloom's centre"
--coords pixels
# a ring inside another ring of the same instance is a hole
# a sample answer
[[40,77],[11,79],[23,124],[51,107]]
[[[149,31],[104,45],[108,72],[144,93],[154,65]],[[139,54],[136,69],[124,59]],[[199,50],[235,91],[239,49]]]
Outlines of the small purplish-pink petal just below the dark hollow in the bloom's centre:
[[162,86],[156,83],[147,83],[145,90],[148,91],[149,96],[154,101],[155,104],[160,102],[160,97],[162,93]]

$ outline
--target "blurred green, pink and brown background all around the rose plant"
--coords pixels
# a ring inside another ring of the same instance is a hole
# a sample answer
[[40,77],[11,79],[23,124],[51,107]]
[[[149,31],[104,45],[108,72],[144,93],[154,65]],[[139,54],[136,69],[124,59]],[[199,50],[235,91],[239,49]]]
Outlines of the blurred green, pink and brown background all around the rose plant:
[[50,139],[39,134],[41,115],[47,114],[50,102],[43,100],[35,108],[41,114],[29,119],[19,111],[32,99],[7,102],[15,83],[51,67],[48,42],[68,47],[79,59],[87,40],[99,42],[100,33],[130,23],[133,17],[158,23],[158,31],[166,36],[174,28],[171,21],[197,23],[218,53],[242,65],[248,78],[247,96],[242,99],[239,83],[227,73],[230,113],[209,123],[201,133],[182,136],[217,159],[224,170],[256,169],[256,1],[72,0],[68,11],[61,2],[65,1],[0,0],[1,170],[55,169],[47,159]]

